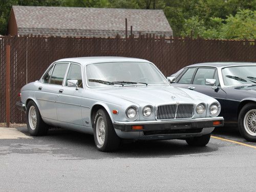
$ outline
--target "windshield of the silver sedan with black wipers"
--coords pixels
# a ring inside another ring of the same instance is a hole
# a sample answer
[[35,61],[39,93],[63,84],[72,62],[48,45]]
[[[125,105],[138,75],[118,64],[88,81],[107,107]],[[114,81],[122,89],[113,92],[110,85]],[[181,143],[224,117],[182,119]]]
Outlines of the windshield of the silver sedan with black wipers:
[[90,87],[169,84],[156,67],[146,62],[94,63],[86,67],[86,76]]

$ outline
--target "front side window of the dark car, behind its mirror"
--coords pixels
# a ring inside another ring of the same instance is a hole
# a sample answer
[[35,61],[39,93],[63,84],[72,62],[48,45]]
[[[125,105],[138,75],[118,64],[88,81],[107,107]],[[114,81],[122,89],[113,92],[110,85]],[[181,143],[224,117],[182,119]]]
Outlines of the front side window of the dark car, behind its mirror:
[[201,84],[205,86],[205,79],[213,79],[214,73],[214,68],[199,68],[195,75],[193,84]]

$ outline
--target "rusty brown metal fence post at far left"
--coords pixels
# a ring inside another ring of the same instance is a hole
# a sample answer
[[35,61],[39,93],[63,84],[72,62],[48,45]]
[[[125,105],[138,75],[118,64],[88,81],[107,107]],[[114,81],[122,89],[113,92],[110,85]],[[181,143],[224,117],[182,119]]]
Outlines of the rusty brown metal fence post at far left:
[[10,126],[10,45],[6,46],[6,126]]

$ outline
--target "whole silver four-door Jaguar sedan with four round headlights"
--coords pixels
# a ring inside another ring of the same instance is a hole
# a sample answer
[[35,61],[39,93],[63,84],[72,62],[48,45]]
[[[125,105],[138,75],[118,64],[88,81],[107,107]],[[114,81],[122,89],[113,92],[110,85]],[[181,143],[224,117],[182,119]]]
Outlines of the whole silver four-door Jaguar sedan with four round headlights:
[[150,61],[125,57],[66,58],[20,92],[28,131],[49,126],[94,135],[100,151],[114,151],[121,139],[184,139],[204,146],[223,126],[220,103],[175,88]]

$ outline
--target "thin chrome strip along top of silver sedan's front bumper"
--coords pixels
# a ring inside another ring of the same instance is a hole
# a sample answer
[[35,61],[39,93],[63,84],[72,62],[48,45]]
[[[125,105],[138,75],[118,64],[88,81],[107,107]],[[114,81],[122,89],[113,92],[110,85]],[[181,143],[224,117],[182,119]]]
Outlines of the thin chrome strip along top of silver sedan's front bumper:
[[120,125],[136,125],[136,124],[162,124],[162,123],[189,123],[189,122],[199,122],[199,121],[222,121],[223,117],[208,117],[208,118],[198,118],[198,119],[183,119],[183,120],[168,120],[168,121],[114,121],[115,124]]

